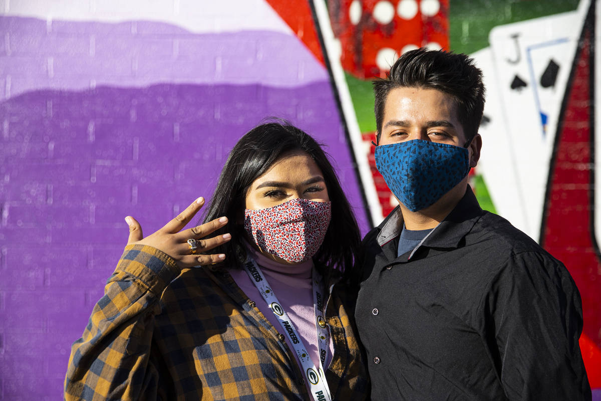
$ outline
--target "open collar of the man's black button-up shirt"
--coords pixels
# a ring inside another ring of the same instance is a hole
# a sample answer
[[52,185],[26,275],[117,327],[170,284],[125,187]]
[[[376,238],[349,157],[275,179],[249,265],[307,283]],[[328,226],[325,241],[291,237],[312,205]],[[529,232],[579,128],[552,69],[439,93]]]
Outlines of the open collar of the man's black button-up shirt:
[[[463,198],[421,245],[430,248],[457,248],[460,240],[474,227],[482,213],[474,191],[468,185]],[[380,246],[398,237],[403,230],[403,213],[400,207],[392,210],[377,228],[380,231],[377,235],[377,243]]]

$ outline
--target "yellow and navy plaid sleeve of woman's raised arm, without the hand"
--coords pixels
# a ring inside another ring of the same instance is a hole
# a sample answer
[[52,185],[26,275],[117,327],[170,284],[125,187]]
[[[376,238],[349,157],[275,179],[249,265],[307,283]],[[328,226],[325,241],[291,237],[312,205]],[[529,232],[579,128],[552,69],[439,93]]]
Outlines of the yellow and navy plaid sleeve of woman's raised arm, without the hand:
[[159,297],[177,277],[156,248],[127,245],[84,334],[72,346],[65,399],[154,399],[159,377],[149,362]]

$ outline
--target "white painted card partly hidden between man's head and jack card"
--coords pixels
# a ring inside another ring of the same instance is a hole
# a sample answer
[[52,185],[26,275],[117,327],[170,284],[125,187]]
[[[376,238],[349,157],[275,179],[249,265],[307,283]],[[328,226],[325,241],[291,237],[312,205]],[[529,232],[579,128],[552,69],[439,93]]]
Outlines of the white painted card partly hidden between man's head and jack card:
[[513,149],[507,136],[507,127],[501,112],[499,85],[495,75],[492,50],[482,49],[470,57],[483,72],[486,88],[484,116],[478,133],[482,136],[482,152],[477,172],[483,174],[484,182],[495,204],[496,212],[508,219],[522,231],[528,231],[525,201],[519,185],[520,174]]

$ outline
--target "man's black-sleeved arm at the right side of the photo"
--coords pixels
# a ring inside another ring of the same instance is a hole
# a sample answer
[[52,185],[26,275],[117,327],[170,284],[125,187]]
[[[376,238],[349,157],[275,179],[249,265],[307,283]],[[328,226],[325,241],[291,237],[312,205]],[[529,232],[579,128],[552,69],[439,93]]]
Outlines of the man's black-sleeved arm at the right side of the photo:
[[545,253],[510,257],[493,280],[487,343],[510,400],[590,400],[578,344],[582,302],[569,272]]

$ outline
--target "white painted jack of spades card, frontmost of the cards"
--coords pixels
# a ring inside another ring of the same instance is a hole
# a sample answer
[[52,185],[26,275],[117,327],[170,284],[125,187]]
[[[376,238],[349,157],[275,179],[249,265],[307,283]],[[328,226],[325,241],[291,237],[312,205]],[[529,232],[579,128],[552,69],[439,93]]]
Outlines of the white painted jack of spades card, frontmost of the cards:
[[519,169],[524,228],[534,239],[540,234],[555,130],[587,6],[582,0],[576,11],[490,32],[502,118]]

